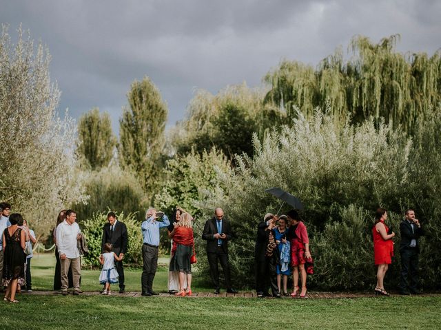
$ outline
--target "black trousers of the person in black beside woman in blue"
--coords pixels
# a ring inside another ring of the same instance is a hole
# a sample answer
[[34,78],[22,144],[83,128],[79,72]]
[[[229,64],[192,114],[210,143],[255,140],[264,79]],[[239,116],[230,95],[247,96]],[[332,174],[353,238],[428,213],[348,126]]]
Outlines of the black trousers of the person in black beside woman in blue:
[[277,261],[274,256],[256,256],[256,292],[268,294],[271,287],[273,296],[280,294],[277,286]]

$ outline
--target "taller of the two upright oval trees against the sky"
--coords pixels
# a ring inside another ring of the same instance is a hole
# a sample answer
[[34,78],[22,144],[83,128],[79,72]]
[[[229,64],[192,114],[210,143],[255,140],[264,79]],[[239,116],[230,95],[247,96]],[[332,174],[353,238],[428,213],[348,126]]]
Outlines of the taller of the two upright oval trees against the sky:
[[164,129],[167,106],[150,78],[134,81],[127,94],[129,106],[120,120],[119,156],[123,168],[130,168],[151,194],[163,166]]

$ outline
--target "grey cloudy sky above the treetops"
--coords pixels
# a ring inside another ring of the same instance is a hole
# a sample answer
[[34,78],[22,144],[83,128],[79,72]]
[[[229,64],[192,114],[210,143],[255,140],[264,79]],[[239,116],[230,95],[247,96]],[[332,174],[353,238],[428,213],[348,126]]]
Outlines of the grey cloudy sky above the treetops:
[[147,75],[169,107],[185,116],[195,89],[261,85],[281,59],[316,65],[363,34],[399,33],[401,52],[441,47],[441,1],[297,0],[0,0],[0,22],[22,23],[52,54],[60,110],[74,118],[107,111],[118,131],[133,80]]

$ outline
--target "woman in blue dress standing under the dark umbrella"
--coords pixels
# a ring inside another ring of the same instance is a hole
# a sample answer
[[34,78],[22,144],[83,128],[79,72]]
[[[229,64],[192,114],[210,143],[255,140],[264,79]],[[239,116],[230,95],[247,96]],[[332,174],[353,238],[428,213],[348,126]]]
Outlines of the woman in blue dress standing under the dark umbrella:
[[280,265],[276,267],[277,273],[277,286],[278,291],[281,293],[280,284],[283,276],[283,295],[288,296],[288,276],[291,275],[291,244],[287,240],[287,217],[280,215],[278,218],[278,226],[274,228],[274,239],[280,254]]

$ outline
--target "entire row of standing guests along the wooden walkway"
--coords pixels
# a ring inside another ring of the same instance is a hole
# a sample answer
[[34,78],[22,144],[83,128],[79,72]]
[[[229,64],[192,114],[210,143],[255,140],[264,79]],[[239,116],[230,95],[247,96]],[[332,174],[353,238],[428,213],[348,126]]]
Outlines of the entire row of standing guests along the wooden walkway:
[[[7,287],[4,300],[17,303],[17,289],[24,286],[32,291],[30,259],[35,234],[28,228],[21,214],[10,214],[11,206],[0,203],[0,278]],[[392,262],[393,237],[385,221],[387,210],[378,208],[376,222],[372,228],[374,259],[377,269],[376,295],[389,296],[384,289],[384,276]],[[196,263],[194,249],[193,218],[182,208],[176,208],[170,221],[163,212],[149,208],[145,221],[141,223],[143,235],[143,272],[141,275],[141,294],[154,296],[153,281],[158,265],[160,230],[167,228],[171,241],[168,289],[176,296],[192,295],[192,264]],[[202,239],[207,241],[206,252],[209,272],[214,285],[214,293],[220,293],[219,268],[223,268],[226,291],[237,293],[232,287],[229,267],[228,243],[234,238],[231,223],[225,218],[221,208],[214,210],[214,217],[205,222]],[[424,234],[415,211],[405,212],[400,223],[401,278],[400,294],[419,294],[418,288],[418,240]],[[87,242],[76,223],[74,210],[62,210],[53,230],[57,258],[54,290],[68,294],[81,294],[81,255],[87,252]],[[103,269],[99,282],[103,285],[102,294],[111,294],[110,285],[119,283],[119,292],[125,292],[123,259],[127,252],[127,228],[114,212],[107,214],[103,225],[102,254],[99,257]],[[300,220],[296,210],[286,215],[265,214],[257,225],[255,244],[256,292],[259,298],[273,296],[307,297],[307,274],[314,273],[314,261],[309,251],[309,239],[305,223]],[[287,290],[288,277],[293,276],[293,291]],[[410,283],[409,283],[410,278]],[[271,293],[269,293],[271,289]]]

